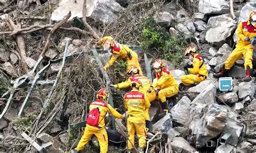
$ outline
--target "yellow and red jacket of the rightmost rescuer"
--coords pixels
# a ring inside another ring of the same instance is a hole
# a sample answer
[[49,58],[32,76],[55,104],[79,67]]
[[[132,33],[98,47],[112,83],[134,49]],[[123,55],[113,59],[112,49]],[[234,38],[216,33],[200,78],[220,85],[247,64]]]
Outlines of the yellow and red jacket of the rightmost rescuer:
[[250,41],[245,41],[245,37],[250,37],[252,40],[253,36],[256,36],[256,27],[251,25],[249,21],[241,22],[237,27],[237,45],[247,46],[250,45]]

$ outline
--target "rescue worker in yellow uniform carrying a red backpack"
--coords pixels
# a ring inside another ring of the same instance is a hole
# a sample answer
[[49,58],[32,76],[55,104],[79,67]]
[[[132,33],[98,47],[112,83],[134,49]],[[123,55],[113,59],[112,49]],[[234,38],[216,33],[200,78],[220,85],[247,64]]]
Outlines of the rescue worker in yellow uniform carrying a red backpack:
[[[124,119],[124,116],[119,114],[115,109],[113,109],[107,102],[107,98],[109,93],[106,91],[105,88],[99,89],[97,92],[97,100],[92,102],[90,105],[90,111],[94,108],[98,108],[99,111],[99,118],[98,118],[98,126],[91,126],[87,123],[84,130],[84,134],[80,139],[77,148],[75,148],[75,152],[81,152],[84,150],[85,145],[89,142],[90,138],[95,135],[99,141],[100,152],[107,152],[108,147],[108,138],[105,129],[105,116],[106,113],[112,114],[114,117],[118,119]],[[90,113],[89,113],[90,115]]]

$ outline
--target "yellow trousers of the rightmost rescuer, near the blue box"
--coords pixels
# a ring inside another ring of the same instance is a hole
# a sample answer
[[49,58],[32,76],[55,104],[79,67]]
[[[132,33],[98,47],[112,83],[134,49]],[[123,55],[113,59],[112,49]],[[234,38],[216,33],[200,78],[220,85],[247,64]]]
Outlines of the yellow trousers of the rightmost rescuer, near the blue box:
[[247,66],[249,66],[250,69],[252,69],[253,48],[251,44],[248,44],[246,46],[237,44],[233,52],[225,61],[225,69],[230,69],[234,65],[234,62],[242,57],[244,57],[245,60],[245,69],[247,69]]

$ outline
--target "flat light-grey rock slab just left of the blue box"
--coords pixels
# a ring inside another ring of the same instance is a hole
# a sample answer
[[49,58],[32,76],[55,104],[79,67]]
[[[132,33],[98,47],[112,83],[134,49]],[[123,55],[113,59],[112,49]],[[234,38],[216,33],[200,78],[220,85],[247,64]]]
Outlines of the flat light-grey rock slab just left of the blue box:
[[188,93],[188,97],[190,98],[190,100],[193,100],[194,98],[196,98],[197,95],[199,95],[199,93],[203,92],[204,89],[211,84],[214,85],[214,82],[211,80],[205,80],[200,82],[200,84],[198,84],[197,86],[189,88],[187,92],[197,92],[197,93]]

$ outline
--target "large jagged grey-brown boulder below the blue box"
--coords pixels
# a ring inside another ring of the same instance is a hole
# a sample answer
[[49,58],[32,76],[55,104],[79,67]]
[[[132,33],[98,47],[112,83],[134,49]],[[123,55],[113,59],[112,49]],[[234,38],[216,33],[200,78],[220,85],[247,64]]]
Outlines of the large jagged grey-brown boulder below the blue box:
[[188,134],[188,141],[197,148],[204,147],[211,138],[217,137],[225,128],[227,110],[218,105],[212,104],[192,106],[190,109],[192,117]]

